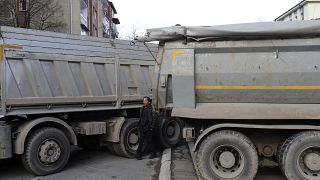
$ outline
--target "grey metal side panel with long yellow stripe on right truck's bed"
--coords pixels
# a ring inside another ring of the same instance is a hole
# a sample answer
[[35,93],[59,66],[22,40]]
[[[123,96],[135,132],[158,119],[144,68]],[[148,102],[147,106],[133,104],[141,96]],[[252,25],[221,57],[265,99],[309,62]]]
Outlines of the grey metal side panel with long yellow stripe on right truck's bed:
[[320,103],[319,57],[319,38],[196,48],[197,102]]

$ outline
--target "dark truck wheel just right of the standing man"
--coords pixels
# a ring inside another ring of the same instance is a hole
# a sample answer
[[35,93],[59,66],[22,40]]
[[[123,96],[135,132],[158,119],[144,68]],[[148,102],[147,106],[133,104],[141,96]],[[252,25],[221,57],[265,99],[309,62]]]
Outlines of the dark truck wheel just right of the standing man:
[[183,124],[179,119],[162,119],[160,121],[159,140],[164,147],[172,147],[182,140]]

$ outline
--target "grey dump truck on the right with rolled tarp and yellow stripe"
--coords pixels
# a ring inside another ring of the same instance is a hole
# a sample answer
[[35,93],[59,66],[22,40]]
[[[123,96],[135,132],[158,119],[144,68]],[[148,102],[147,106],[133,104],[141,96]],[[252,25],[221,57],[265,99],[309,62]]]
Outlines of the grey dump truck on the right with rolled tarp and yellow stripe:
[[320,179],[320,21],[147,30],[159,41],[153,106],[169,138],[194,140],[203,179],[278,165]]

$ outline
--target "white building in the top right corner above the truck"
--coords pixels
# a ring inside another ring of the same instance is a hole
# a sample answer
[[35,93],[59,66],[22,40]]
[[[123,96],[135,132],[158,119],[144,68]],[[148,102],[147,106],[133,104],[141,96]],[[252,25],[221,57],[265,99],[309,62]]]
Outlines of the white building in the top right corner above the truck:
[[275,21],[297,21],[320,19],[320,0],[303,0]]

